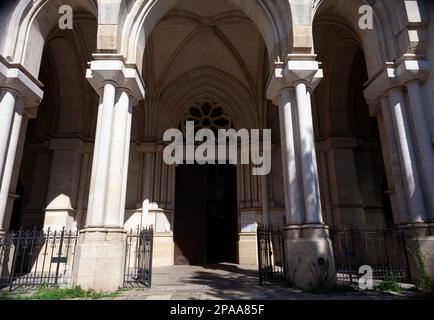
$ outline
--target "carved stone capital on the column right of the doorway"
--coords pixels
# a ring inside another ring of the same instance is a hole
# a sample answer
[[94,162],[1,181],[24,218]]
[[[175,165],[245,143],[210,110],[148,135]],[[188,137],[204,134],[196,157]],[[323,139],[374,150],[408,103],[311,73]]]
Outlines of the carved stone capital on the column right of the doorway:
[[267,98],[274,104],[283,89],[293,89],[304,82],[310,91],[315,90],[323,78],[321,63],[315,54],[288,54],[285,62],[277,61],[268,83]]

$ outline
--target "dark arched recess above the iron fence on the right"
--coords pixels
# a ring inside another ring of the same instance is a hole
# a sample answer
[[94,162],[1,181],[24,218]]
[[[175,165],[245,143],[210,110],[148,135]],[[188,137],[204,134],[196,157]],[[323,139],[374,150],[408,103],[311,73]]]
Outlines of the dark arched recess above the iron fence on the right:
[[313,23],[315,51],[324,70],[313,96],[324,218],[338,228],[384,227],[396,219],[377,120],[370,117],[363,91],[368,77],[383,68],[390,47],[377,45],[384,34],[363,33],[343,18],[344,12],[348,17],[358,14],[358,6],[333,13],[337,7],[332,3],[341,2],[324,1],[327,6],[317,11]]

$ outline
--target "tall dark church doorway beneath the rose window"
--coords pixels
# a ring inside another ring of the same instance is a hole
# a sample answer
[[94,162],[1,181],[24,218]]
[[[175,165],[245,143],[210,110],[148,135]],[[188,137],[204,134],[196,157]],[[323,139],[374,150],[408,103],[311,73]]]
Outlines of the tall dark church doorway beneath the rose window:
[[235,170],[232,165],[177,167],[175,264],[238,262]]

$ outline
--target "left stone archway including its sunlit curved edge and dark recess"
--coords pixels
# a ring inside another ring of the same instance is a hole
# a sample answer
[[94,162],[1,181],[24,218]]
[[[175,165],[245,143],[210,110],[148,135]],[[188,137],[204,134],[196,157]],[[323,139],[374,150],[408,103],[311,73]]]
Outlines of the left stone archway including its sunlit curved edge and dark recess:
[[[72,31],[57,28],[62,4],[75,10]],[[5,223],[13,218],[28,229],[81,227],[96,123],[96,113],[89,112],[96,95],[83,74],[96,50],[96,4],[20,1],[10,9],[3,54],[42,82],[45,97],[22,119],[10,186],[14,195],[20,181],[21,205],[19,217],[11,217],[15,198],[9,196]]]

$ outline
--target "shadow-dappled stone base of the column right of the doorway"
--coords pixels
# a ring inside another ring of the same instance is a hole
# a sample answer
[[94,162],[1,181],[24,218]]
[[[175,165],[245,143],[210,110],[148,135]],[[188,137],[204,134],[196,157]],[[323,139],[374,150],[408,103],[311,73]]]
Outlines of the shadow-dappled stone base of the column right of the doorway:
[[332,289],[336,285],[336,270],[328,227],[288,225],[283,235],[287,281],[301,289]]

